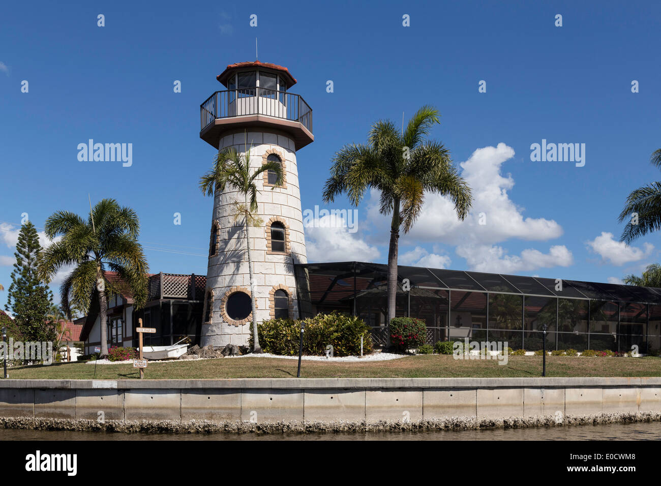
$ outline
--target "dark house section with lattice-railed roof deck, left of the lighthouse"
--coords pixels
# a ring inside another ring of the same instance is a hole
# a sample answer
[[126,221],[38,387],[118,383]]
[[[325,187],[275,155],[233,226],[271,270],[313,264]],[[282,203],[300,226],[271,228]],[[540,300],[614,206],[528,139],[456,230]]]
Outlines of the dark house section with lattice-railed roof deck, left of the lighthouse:
[[[163,272],[149,274],[147,303],[139,310],[134,308],[130,289],[116,272],[105,272],[105,277],[120,288],[118,294],[108,296],[108,348],[137,346],[134,329],[138,326],[138,319],[142,319],[143,327],[156,329],[156,333],[145,333],[143,336],[145,346],[164,346],[186,338],[190,344],[199,343],[206,276]],[[77,322],[83,323],[80,339],[85,341],[85,354],[92,354],[95,346],[101,344],[96,292],[88,315],[77,319]]]

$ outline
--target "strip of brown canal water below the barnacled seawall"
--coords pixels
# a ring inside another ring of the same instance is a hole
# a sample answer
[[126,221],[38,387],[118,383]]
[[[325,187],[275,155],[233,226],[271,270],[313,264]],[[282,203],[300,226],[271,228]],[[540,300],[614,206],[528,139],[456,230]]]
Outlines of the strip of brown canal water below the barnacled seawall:
[[0,429],[4,440],[661,440],[661,422],[549,428],[314,434],[147,434]]

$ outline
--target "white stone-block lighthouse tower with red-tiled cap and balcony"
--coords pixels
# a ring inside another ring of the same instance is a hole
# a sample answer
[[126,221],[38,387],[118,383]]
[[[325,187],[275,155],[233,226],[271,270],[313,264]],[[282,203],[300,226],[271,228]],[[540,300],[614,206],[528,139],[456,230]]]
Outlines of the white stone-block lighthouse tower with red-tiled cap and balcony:
[[[202,346],[248,344],[251,322],[274,317],[297,319],[301,282],[294,264],[307,263],[296,152],[313,142],[312,109],[290,93],[296,79],[286,67],[272,63],[230,64],[216,79],[225,87],[202,105],[200,138],[221,151],[250,149],[251,169],[266,161],[282,166],[284,183],[275,174],[257,181],[258,216],[262,226],[249,228],[256,291],[256,316],[251,309],[251,285],[243,219],[235,203],[245,196],[233,186],[214,194],[210,225],[207,287],[202,316]],[[298,283],[298,285],[297,285]]]

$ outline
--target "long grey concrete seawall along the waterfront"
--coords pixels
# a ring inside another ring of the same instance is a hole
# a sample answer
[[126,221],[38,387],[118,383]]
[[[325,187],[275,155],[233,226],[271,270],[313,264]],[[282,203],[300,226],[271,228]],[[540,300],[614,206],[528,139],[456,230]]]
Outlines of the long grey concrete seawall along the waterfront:
[[[561,415],[559,415],[559,413]],[[661,414],[661,378],[3,380],[5,419],[112,423],[473,423]],[[641,416],[642,416],[641,415]],[[11,422],[11,420],[10,420]],[[542,421],[540,425],[548,425]]]

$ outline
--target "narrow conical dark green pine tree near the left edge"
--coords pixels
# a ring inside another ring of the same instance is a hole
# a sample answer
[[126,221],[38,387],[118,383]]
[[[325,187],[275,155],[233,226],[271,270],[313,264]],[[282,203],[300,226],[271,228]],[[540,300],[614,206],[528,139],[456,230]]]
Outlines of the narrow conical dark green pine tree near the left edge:
[[11,310],[25,341],[55,341],[56,333],[49,313],[53,294],[37,274],[41,252],[39,237],[31,222],[20,227],[16,263],[5,310]]

